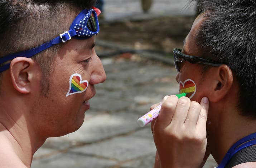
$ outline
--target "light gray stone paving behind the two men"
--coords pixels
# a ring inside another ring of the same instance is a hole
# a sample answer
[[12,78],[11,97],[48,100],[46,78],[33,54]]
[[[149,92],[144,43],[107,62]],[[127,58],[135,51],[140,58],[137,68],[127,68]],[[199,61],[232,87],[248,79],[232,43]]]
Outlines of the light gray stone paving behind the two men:
[[[138,19],[132,15],[139,14],[139,19],[156,14],[193,15],[192,8],[184,9],[186,2],[155,0],[149,13],[143,14],[139,0],[106,0],[105,21]],[[96,86],[82,127],[63,137],[48,138],[35,153],[32,168],[152,167],[156,149],[150,127],[140,128],[136,121],[165,95],[178,93],[178,84],[172,64],[151,61],[145,55],[102,58],[107,80]],[[210,158],[204,168],[214,166]]]

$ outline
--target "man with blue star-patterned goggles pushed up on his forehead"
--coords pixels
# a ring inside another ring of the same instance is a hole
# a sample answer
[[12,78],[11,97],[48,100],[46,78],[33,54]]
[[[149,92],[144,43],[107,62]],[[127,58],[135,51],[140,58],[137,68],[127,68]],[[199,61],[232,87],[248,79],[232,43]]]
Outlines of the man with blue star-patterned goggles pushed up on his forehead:
[[28,168],[47,138],[82,126],[94,86],[106,80],[93,4],[0,1],[0,167]]

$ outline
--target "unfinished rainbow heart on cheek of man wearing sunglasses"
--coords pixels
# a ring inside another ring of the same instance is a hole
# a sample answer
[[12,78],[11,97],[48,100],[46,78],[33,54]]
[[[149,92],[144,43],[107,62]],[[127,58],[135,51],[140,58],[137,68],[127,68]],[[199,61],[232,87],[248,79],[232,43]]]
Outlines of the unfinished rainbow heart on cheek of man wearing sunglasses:
[[179,90],[180,93],[188,93],[188,96],[190,95],[189,98],[191,99],[197,91],[197,86],[193,80],[187,79],[184,83],[182,83],[182,81],[179,82]]

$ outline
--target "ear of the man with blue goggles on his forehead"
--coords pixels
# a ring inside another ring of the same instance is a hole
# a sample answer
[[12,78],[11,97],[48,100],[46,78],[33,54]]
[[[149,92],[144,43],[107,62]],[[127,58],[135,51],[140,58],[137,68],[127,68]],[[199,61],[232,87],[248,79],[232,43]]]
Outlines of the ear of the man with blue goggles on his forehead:
[[34,61],[31,58],[17,57],[11,61],[10,75],[14,88],[20,93],[30,93]]

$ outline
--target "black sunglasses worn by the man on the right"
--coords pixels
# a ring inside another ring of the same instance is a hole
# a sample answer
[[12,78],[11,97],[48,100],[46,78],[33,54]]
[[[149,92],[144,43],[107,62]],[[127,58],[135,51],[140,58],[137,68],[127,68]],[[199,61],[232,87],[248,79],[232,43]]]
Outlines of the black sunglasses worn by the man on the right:
[[178,72],[180,71],[181,63],[184,61],[188,61],[190,63],[201,63],[204,65],[211,65],[211,66],[221,66],[222,65],[222,63],[206,60],[201,57],[185,55],[181,51],[182,51],[182,49],[178,49],[178,48],[173,49],[174,64],[175,64],[175,68]]

